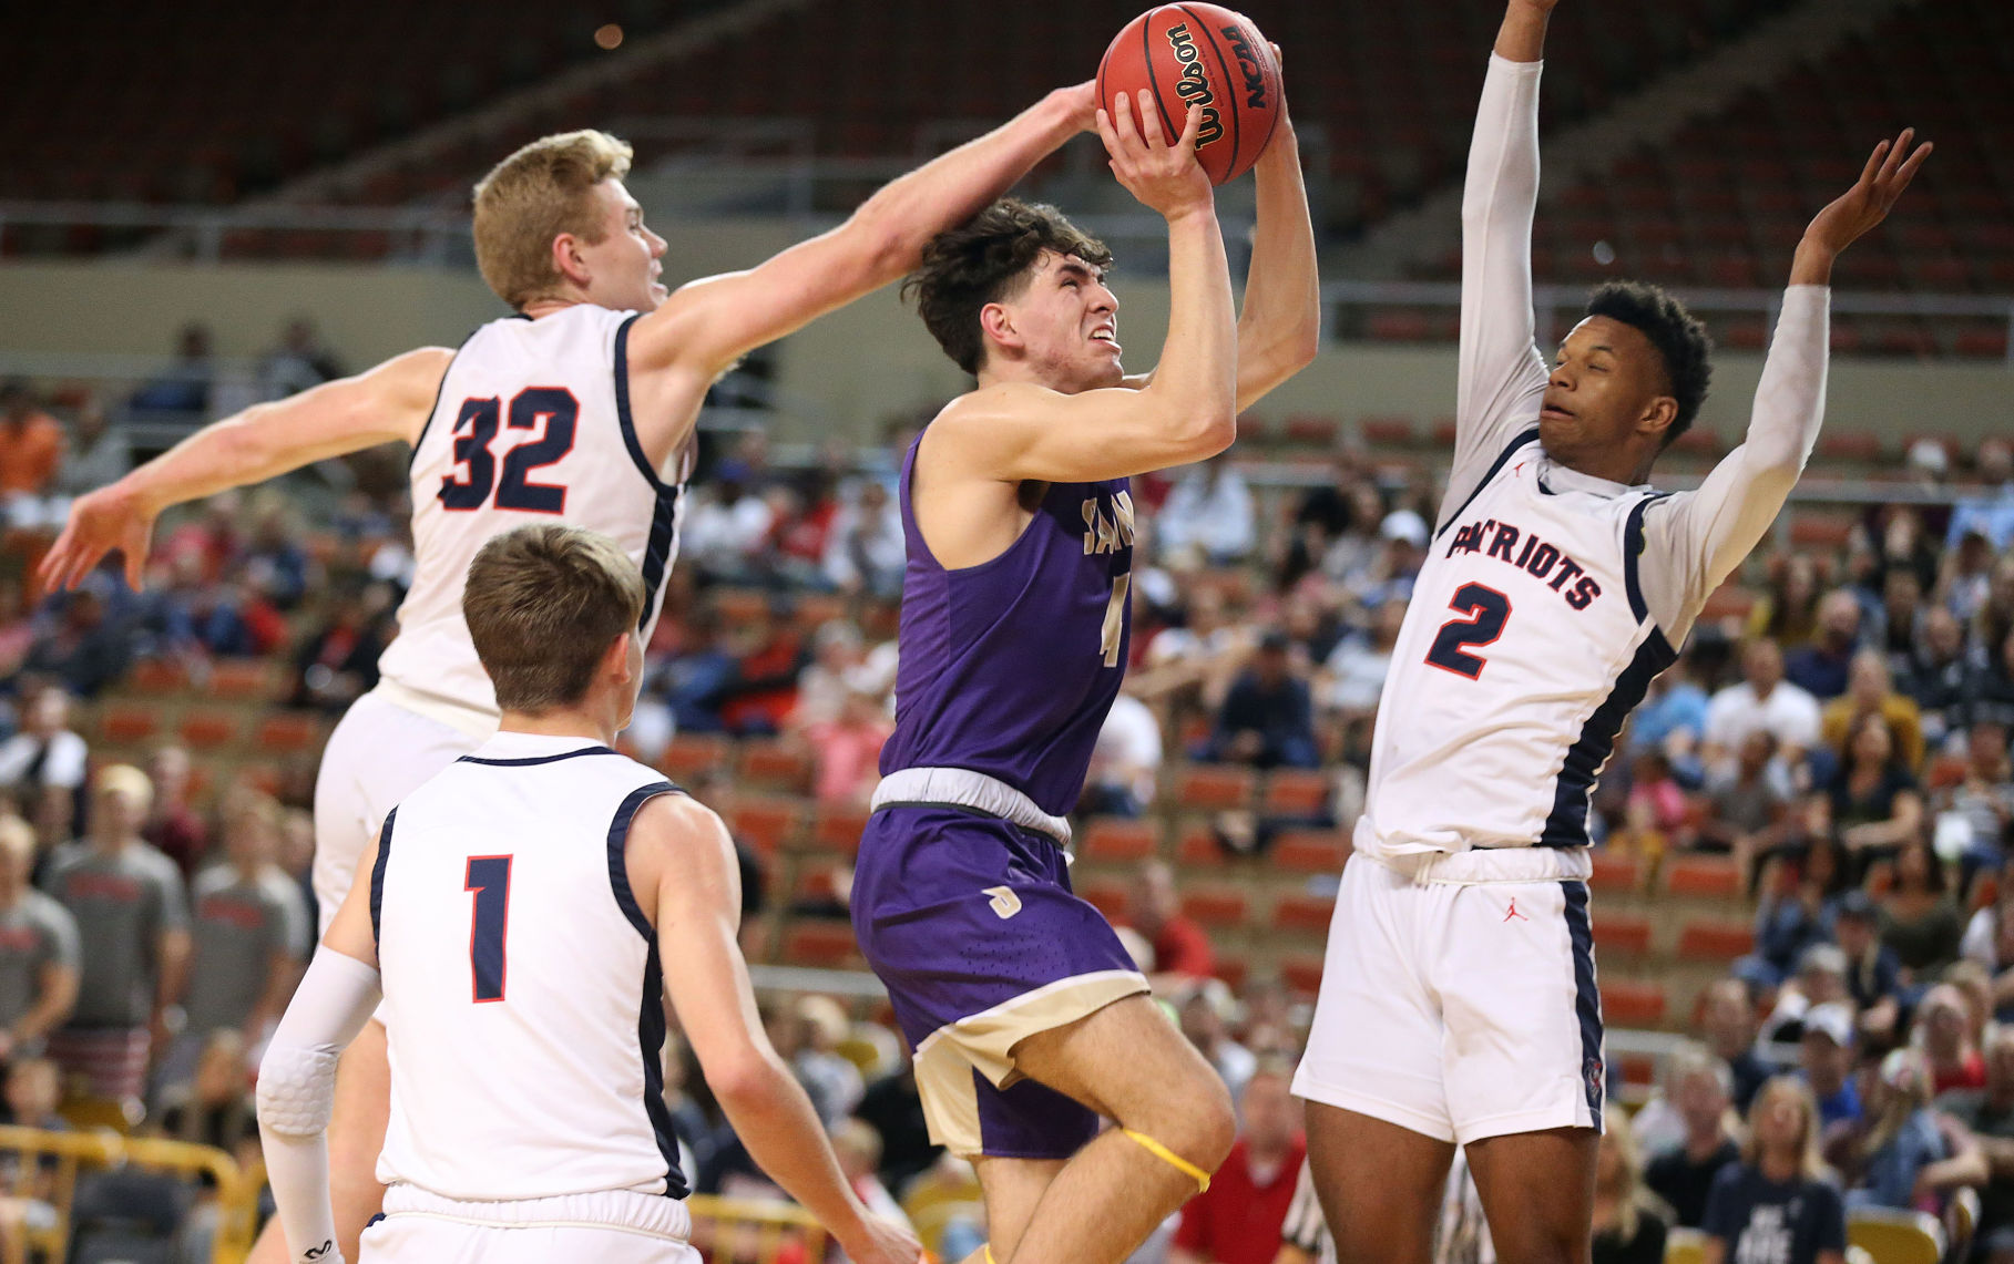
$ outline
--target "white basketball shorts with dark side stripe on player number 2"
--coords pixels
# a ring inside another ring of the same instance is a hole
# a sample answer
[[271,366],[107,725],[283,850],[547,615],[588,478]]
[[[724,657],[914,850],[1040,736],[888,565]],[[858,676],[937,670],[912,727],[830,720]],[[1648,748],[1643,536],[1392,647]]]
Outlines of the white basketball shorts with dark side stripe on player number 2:
[[1414,874],[1363,855],[1343,865],[1293,1091],[1462,1145],[1599,1129],[1587,884],[1517,880],[1565,859],[1581,857],[1519,847],[1434,855]]

